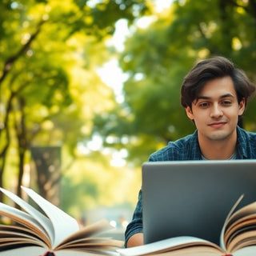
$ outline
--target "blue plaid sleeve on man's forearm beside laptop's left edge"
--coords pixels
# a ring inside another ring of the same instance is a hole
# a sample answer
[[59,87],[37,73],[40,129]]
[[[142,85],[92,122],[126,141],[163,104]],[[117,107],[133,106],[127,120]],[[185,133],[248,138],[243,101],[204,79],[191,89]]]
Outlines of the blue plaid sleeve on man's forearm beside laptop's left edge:
[[138,202],[137,206],[134,210],[134,215],[131,220],[131,222],[126,227],[125,232],[125,247],[127,246],[127,241],[129,238],[137,233],[143,232],[143,226],[142,226],[142,190],[139,190],[138,192]]

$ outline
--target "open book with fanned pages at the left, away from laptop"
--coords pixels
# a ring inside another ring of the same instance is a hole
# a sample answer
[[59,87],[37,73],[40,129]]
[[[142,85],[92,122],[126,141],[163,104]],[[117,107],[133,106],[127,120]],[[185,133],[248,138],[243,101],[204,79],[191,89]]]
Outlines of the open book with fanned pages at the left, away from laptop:
[[0,202],[0,214],[10,218],[15,225],[0,225],[0,255],[116,255],[122,241],[105,238],[109,222],[102,220],[80,229],[78,222],[29,188],[22,190],[42,210],[8,190],[2,193],[22,210]]

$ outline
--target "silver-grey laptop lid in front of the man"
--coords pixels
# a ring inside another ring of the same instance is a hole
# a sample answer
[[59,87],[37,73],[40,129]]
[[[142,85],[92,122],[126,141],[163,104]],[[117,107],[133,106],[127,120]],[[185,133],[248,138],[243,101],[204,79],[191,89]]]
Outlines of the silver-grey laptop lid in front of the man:
[[219,244],[230,209],[256,201],[256,160],[146,162],[142,165],[145,243],[180,235]]

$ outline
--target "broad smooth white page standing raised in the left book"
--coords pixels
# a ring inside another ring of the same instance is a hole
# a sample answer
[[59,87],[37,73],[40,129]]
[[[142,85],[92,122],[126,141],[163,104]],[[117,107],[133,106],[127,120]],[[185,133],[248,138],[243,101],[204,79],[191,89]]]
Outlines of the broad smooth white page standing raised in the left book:
[[45,198],[42,198],[39,194],[34,192],[34,190],[28,189],[24,186],[22,186],[22,190],[24,190],[26,194],[28,194],[29,197],[33,199],[34,202],[37,203],[37,205],[40,206],[40,208],[50,218],[50,221],[54,226],[53,248],[71,234],[78,232],[78,222],[69,214],[66,214],[57,206],[54,206]]

